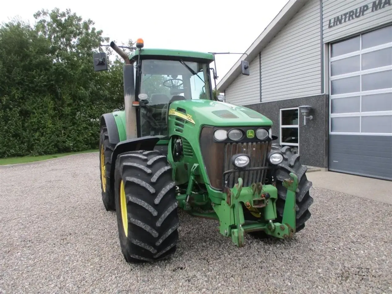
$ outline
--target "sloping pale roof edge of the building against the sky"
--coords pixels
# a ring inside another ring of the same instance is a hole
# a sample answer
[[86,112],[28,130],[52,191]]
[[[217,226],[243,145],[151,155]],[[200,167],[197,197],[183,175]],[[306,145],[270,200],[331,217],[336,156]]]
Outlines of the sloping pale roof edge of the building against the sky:
[[[267,45],[276,34],[290,21],[290,19],[305,5],[309,0],[288,0],[285,6],[279,11],[278,15],[267,25],[264,31],[254,40],[245,53],[248,54],[247,60],[251,62],[257,54]],[[225,76],[220,80],[216,88],[219,92],[225,89],[241,73],[242,56],[230,68]]]

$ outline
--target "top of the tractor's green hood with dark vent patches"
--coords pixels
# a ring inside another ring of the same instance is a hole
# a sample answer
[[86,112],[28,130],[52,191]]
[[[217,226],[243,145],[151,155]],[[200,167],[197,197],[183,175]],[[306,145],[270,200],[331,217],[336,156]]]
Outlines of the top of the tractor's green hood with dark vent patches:
[[196,125],[213,125],[216,127],[272,125],[269,118],[257,111],[220,101],[180,100],[172,102],[169,107],[171,112],[178,112],[181,108],[186,111],[186,115]]

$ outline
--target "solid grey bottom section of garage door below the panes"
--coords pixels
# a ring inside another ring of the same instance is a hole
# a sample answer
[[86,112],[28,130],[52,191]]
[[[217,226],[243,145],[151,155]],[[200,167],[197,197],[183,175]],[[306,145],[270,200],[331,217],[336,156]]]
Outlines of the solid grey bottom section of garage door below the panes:
[[329,169],[392,180],[392,136],[331,134]]

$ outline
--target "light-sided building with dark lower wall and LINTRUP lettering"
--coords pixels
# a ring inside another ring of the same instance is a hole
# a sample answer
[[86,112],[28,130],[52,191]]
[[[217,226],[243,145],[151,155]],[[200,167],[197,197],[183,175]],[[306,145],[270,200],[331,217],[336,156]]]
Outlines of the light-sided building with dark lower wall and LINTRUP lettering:
[[[218,84],[306,165],[392,179],[392,0],[290,0]],[[312,109],[304,125],[301,105]]]

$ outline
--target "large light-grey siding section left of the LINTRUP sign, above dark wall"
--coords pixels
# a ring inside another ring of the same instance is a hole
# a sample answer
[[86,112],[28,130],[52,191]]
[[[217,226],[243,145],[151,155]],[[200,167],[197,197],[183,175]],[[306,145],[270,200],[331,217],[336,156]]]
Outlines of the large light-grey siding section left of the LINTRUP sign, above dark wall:
[[310,0],[261,52],[261,102],[321,93],[320,1]]

